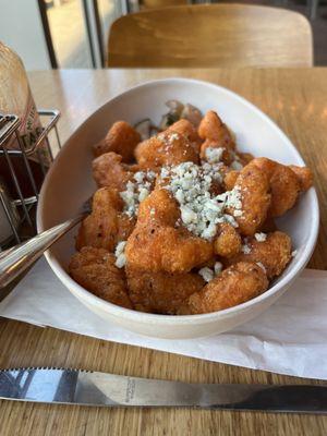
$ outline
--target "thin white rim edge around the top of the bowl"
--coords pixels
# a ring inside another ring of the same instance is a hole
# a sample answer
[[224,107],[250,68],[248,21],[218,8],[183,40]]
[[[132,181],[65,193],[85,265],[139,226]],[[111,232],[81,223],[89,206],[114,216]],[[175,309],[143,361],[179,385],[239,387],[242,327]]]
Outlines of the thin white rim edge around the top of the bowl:
[[[89,122],[92,117],[94,117],[97,112],[104,109],[105,106],[114,102],[117,99],[120,99],[122,96],[125,96],[130,93],[133,93],[137,89],[141,88],[147,88],[147,87],[153,87],[156,85],[165,85],[165,84],[197,84],[202,86],[206,86],[207,88],[215,88],[219,89],[220,92],[225,93],[226,95],[229,95],[235,100],[239,100],[241,104],[247,106],[251,110],[253,110],[257,116],[259,116],[266,123],[270,124],[270,126],[278,132],[278,134],[281,136],[281,138],[288,144],[288,146],[293,150],[293,153],[296,155],[299,161],[304,165],[304,160],[296,149],[296,147],[293,145],[293,143],[290,141],[290,138],[286,135],[286,133],[278,126],[278,124],[272,121],[265,112],[263,112],[259,108],[257,108],[255,105],[253,105],[251,101],[245,99],[244,97],[240,96],[239,94],[234,93],[231,89],[226,88],[225,86],[217,85],[210,82],[202,81],[202,80],[195,80],[195,78],[189,78],[189,77],[167,77],[167,78],[158,78],[158,80],[153,80],[153,81],[146,81],[141,84],[137,84],[135,86],[129,87],[125,89],[123,93],[119,93],[118,95],[113,96],[110,98],[108,101],[106,101],[104,105],[101,105],[96,111],[90,113],[83,122],[82,124],[78,125],[78,128],[71,134],[71,136],[65,141],[63,146],[61,147],[60,152],[58,153],[53,164],[51,165],[45,181],[41,186],[41,191],[39,194],[39,202],[37,206],[37,231],[40,232],[44,229],[44,220],[43,220],[43,214],[44,214],[44,198],[48,189],[48,185],[51,182],[52,173],[55,172],[56,168],[58,165],[60,165],[60,161],[62,159],[62,156],[65,153],[65,145],[68,143],[71,143],[74,140],[74,136],[78,134],[78,132],[84,128],[84,125]],[[80,286],[75,280],[71,278],[71,276],[65,271],[65,269],[59,264],[59,262],[55,258],[55,256],[51,255],[50,251],[47,251],[45,253],[45,256],[47,258],[47,262],[49,263],[52,271],[57,275],[57,277],[65,284],[65,287],[69,289],[70,292],[72,293],[77,293],[78,299],[82,301],[87,301],[88,305],[97,306],[101,311],[105,310],[105,312],[110,313],[113,316],[117,317],[123,317],[128,318],[130,320],[134,322],[141,322],[142,324],[159,324],[161,326],[164,325],[171,325],[172,322],[173,324],[177,325],[187,325],[190,323],[194,324],[196,322],[204,322],[204,323],[210,323],[214,319],[217,320],[217,318],[227,318],[231,317],[232,315],[235,315],[238,312],[243,312],[245,310],[251,308],[254,305],[259,304],[261,302],[267,300],[269,296],[272,296],[274,294],[278,293],[282,288],[287,288],[291,282],[299,276],[299,274],[304,269],[305,265],[307,264],[316,244],[316,240],[318,237],[318,230],[319,230],[319,207],[318,207],[318,198],[317,198],[317,193],[315,187],[311,187],[307,192],[306,195],[311,196],[311,203],[312,203],[312,208],[313,208],[313,220],[311,221],[311,231],[310,231],[310,237],[308,241],[304,247],[304,250],[301,252],[301,257],[298,259],[298,262],[293,265],[292,269],[286,274],[283,278],[280,279],[276,284],[272,284],[271,288],[267,289],[267,291],[263,292],[258,296],[255,296],[252,300],[249,300],[244,303],[238,304],[235,306],[225,308],[218,312],[210,312],[206,314],[197,314],[197,315],[161,315],[161,314],[153,314],[153,313],[144,313],[144,312],[137,312],[135,310],[131,308],[125,308],[119,305],[116,305],[113,303],[110,303],[106,300],[102,300],[92,292],[87,291],[85,288]],[[74,291],[71,291],[70,288],[74,288]],[[75,295],[76,296],[76,295]]]

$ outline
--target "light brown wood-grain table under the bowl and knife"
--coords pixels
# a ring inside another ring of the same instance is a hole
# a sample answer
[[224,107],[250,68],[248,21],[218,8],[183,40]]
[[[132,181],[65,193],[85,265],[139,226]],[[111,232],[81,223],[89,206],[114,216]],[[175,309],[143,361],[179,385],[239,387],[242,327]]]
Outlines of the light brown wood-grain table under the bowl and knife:
[[[322,206],[319,241],[310,266],[327,266],[327,69],[112,70],[29,74],[38,107],[58,108],[65,140],[108,98],[146,80],[187,76],[227,86],[257,105],[290,136],[315,173]],[[310,223],[308,223],[310,225]],[[294,326],[294,335],[296,326]],[[0,367],[68,366],[203,383],[319,384],[0,322]],[[326,362],[317,362],[325,365]],[[327,416],[186,409],[100,409],[0,402],[0,435],[326,435]]]

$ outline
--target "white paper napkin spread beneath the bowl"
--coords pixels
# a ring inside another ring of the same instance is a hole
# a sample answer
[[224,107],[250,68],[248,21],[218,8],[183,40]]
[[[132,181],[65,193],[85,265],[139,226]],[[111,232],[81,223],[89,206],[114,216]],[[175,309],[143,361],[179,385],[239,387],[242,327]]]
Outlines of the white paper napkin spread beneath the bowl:
[[299,377],[327,379],[327,271],[306,269],[264,314],[204,339],[138,336],[84,307],[41,258],[0,303],[0,316],[114,342]]

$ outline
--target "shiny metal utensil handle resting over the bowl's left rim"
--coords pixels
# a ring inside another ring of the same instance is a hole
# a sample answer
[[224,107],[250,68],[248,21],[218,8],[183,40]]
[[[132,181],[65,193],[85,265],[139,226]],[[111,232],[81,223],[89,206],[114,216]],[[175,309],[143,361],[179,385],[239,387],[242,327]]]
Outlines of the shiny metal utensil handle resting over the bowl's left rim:
[[90,199],[87,199],[82,206],[82,211],[75,218],[55,226],[28,241],[22,242],[0,253],[0,288],[9,284],[21,272],[28,268],[56,241],[82,221],[89,211]]

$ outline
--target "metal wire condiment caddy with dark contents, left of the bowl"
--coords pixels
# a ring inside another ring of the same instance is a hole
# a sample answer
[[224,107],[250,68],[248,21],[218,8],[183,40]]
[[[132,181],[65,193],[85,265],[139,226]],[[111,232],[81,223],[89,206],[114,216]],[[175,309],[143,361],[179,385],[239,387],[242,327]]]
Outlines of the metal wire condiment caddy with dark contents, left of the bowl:
[[[50,164],[53,161],[55,147],[49,133],[55,131],[58,149],[61,143],[57,122],[58,110],[38,110],[41,120],[46,120],[43,131],[33,147],[26,149],[19,134],[21,121],[14,114],[0,114],[0,249],[8,249],[36,233],[35,213],[43,180],[49,169],[40,154],[40,145],[46,147]],[[5,144],[15,135],[19,149],[8,149]],[[33,157],[33,158],[32,158]],[[2,208],[1,208],[2,206]],[[9,233],[9,234],[7,234]]]

